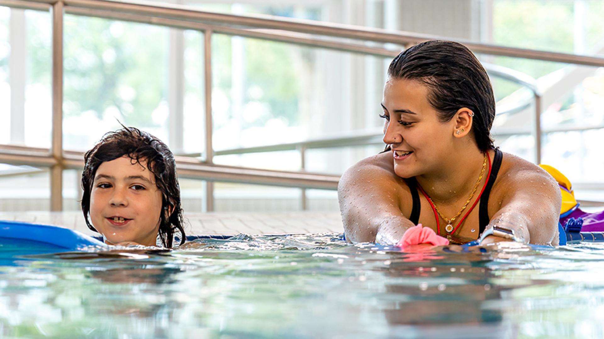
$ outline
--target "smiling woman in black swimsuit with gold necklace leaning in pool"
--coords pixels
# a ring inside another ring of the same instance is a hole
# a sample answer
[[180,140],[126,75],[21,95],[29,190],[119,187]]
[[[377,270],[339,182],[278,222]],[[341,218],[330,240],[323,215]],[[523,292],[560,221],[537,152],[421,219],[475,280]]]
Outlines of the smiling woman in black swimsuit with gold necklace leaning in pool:
[[557,245],[558,185],[493,146],[493,90],[469,49],[449,41],[406,49],[390,63],[383,100],[386,150],[339,183],[349,241]]

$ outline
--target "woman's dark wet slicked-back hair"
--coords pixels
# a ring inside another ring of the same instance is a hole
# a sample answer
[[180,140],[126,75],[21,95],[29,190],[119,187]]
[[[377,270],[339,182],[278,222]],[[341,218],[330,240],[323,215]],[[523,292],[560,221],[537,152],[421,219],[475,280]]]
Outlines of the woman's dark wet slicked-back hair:
[[495,119],[495,97],[489,76],[475,55],[461,43],[430,40],[397,55],[388,77],[419,81],[428,87],[428,102],[440,121],[450,121],[466,107],[474,112],[472,130],[481,151],[492,149],[490,128]]

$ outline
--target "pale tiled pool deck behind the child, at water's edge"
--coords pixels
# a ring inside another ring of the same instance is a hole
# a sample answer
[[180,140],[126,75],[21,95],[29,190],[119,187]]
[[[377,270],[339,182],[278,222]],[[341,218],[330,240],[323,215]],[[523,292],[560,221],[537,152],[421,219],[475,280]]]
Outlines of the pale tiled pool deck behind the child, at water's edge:
[[[342,233],[339,212],[213,212],[188,213],[187,235]],[[78,230],[98,236],[86,227],[82,212],[0,212],[0,220],[25,221]]]

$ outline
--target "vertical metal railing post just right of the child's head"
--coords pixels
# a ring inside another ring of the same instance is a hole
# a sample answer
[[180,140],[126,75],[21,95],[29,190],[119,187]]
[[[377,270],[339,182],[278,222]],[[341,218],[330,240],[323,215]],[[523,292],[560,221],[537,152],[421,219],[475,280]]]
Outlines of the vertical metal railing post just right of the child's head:
[[[212,30],[204,32],[204,89],[205,89],[205,162],[214,162],[212,145]],[[214,211],[214,183],[205,186],[205,211]]]

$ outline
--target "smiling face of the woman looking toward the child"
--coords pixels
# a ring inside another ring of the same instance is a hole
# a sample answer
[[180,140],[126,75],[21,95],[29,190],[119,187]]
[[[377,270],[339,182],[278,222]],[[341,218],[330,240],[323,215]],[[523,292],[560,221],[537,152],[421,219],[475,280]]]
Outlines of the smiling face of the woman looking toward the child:
[[394,173],[409,178],[437,170],[450,156],[455,122],[440,122],[428,103],[428,87],[414,80],[390,78],[382,102],[384,142],[390,144]]

